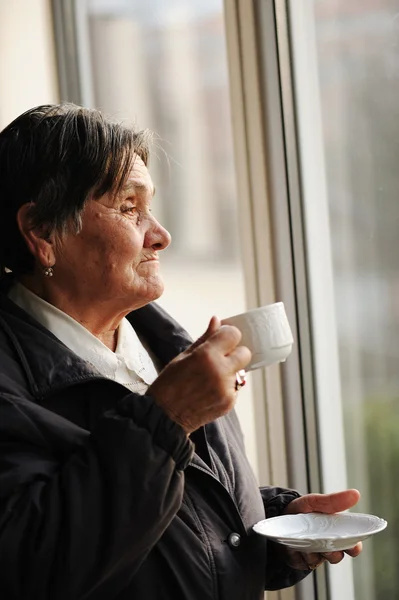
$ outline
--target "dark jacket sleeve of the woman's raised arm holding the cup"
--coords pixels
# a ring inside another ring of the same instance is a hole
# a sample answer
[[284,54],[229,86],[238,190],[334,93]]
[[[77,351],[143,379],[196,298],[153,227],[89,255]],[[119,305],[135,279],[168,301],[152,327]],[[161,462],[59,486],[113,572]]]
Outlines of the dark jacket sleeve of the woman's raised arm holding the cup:
[[72,425],[64,460],[49,431],[70,426],[0,398],[1,598],[80,600],[130,579],[179,510],[193,445],[151,397],[125,396],[91,434]]

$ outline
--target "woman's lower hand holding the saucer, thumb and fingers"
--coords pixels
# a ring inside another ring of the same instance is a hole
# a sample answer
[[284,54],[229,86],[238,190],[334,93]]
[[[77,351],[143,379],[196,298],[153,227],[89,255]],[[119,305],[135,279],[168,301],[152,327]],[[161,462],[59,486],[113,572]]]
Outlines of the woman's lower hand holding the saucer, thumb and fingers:
[[[319,512],[333,514],[352,508],[360,498],[357,490],[345,490],[335,494],[307,494],[292,500],[286,507],[283,514],[297,515],[300,513]],[[353,558],[362,551],[362,543],[359,542],[353,548],[344,552],[323,552],[323,553],[305,553],[285,548],[287,551],[287,564],[293,569],[307,570],[316,569],[324,562],[336,565],[341,562],[345,554]]]

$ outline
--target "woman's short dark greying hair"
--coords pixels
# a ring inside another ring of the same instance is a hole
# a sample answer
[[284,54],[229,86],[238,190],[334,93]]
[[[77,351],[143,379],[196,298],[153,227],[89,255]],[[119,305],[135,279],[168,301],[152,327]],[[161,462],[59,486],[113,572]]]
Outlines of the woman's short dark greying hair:
[[148,130],[70,103],[32,108],[10,123],[0,133],[0,276],[34,266],[16,220],[23,204],[31,203],[32,227],[77,233],[86,201],[117,193],[134,155],[147,165],[151,140]]

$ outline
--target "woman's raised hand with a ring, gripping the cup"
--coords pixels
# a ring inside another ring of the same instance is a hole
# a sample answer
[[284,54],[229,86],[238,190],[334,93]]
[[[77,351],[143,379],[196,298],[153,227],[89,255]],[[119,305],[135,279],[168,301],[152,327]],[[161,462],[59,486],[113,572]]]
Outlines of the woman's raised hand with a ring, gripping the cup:
[[236,400],[236,372],[251,360],[240,331],[212,317],[194,344],[161,371],[148,394],[187,434],[227,414]]

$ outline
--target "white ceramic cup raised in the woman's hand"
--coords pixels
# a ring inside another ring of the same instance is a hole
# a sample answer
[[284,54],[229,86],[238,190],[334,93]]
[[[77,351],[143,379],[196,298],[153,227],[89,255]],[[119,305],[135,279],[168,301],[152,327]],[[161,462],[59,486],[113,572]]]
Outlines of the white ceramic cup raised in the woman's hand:
[[291,353],[294,339],[282,302],[223,319],[222,325],[237,327],[242,334],[240,345],[251,350],[246,371],[284,362]]

